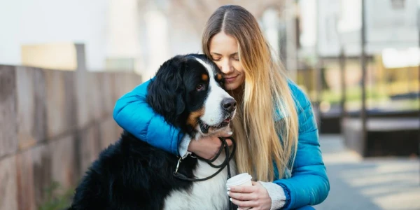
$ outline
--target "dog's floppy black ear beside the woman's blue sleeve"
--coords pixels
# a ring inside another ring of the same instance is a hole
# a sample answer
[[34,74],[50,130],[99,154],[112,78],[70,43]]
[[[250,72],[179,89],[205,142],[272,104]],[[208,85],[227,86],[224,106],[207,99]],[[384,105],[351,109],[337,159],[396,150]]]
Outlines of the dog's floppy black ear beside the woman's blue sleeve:
[[173,57],[160,66],[155,78],[148,85],[147,102],[169,123],[176,124],[176,116],[186,109],[183,74],[185,59]]

